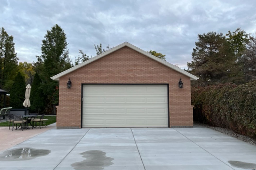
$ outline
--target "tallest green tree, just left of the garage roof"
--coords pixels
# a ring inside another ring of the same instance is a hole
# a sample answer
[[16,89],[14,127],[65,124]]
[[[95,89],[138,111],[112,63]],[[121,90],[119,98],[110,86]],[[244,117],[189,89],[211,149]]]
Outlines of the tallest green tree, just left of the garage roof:
[[37,56],[37,62],[34,63],[35,71],[42,80],[43,93],[47,96],[49,112],[58,104],[58,95],[53,95],[58,89],[58,82],[51,80],[50,77],[71,67],[66,39],[64,30],[57,24],[51,30],[47,30],[41,44],[41,56]]

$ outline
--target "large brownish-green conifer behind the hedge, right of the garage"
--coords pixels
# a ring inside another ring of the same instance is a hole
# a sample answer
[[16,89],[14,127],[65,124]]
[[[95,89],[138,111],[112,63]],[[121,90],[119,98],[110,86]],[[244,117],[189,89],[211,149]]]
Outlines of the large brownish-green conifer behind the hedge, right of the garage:
[[188,69],[200,77],[199,82],[226,82],[236,72],[236,56],[234,50],[222,33],[209,32],[198,35],[198,42],[193,49]]

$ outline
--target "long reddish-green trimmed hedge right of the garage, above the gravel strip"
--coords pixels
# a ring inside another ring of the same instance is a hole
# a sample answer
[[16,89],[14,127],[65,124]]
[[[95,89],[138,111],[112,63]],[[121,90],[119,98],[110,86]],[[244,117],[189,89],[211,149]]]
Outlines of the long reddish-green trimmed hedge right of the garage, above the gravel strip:
[[256,138],[256,81],[192,87],[194,121]]

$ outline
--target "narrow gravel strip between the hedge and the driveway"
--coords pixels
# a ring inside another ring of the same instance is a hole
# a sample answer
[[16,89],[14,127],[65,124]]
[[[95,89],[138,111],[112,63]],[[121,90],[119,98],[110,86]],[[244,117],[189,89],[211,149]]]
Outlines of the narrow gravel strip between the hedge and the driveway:
[[213,127],[213,126],[209,126],[209,125],[206,125],[206,124],[203,124],[203,123],[198,123],[198,122],[194,122],[194,127],[207,127],[207,128],[216,130],[218,132],[224,133],[226,135],[229,135],[233,138],[236,138],[236,139],[245,141],[247,143],[250,143],[252,145],[256,145],[256,139],[250,138],[248,136],[240,135],[240,134],[238,134],[238,133],[236,133],[233,130],[228,129],[228,128]]

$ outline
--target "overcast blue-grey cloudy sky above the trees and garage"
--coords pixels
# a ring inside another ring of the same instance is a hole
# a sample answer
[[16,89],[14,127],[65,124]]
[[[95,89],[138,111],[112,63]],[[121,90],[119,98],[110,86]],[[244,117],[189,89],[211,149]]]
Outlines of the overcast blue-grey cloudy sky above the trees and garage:
[[93,44],[116,46],[125,41],[166,55],[186,68],[197,35],[256,31],[256,1],[0,1],[0,27],[14,36],[20,62],[36,61],[46,30],[55,24],[67,35],[72,60],[78,49],[95,56]]

